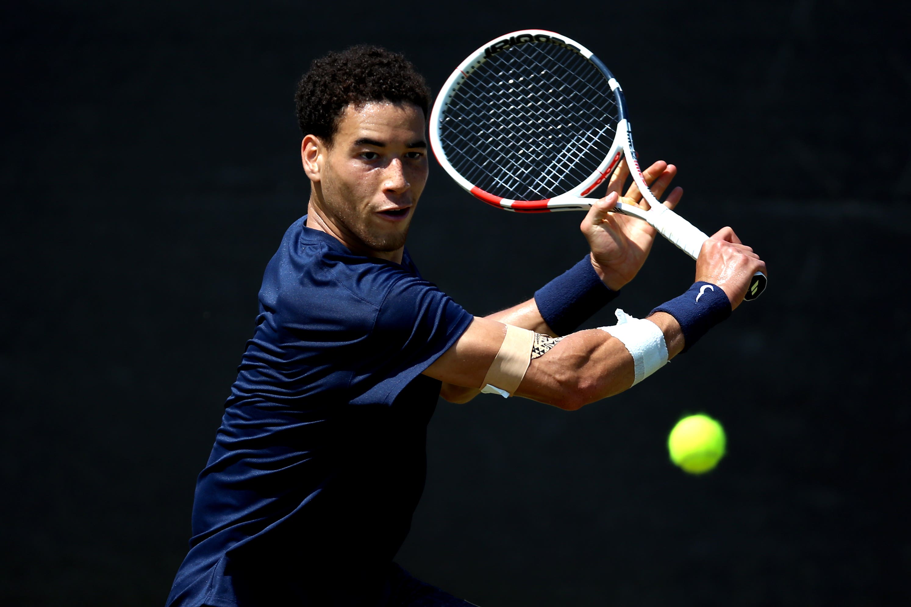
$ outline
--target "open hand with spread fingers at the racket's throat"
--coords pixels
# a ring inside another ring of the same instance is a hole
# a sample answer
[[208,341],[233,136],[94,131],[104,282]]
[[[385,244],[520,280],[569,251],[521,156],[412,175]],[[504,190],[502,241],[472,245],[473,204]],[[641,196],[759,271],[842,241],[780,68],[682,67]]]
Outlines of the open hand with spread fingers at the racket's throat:
[[[670,186],[671,179],[677,175],[677,167],[659,160],[643,173],[652,194],[660,198]],[[619,213],[610,213],[619,199],[625,205],[635,205],[648,209],[649,203],[635,182],[627,190],[626,196],[619,198],[620,190],[630,177],[630,169],[623,160],[610,177],[608,195],[591,206],[588,215],[582,220],[579,229],[589,241],[591,248],[591,265],[608,288],[619,291],[639,272],[645,259],[649,257],[651,243],[657,232],[641,219],[631,218]],[[680,202],[683,189],[675,187],[664,206],[673,208]]]

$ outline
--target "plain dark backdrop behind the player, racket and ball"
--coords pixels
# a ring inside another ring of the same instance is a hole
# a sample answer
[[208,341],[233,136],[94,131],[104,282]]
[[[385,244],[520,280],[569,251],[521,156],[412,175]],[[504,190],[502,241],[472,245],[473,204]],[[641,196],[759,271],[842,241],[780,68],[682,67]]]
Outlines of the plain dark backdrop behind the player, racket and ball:
[[[164,603],[262,269],[303,214],[312,58],[381,44],[436,90],[522,27],[604,59],[640,157],[677,164],[683,214],[732,225],[770,287],[576,413],[441,403],[399,561],[484,607],[911,600],[906,3],[19,4],[0,15],[0,603]],[[434,166],[410,249],[481,315],[581,258],[581,218],[498,212]],[[691,276],[659,242],[618,304],[642,316]],[[700,478],[665,448],[696,411],[729,438]]]

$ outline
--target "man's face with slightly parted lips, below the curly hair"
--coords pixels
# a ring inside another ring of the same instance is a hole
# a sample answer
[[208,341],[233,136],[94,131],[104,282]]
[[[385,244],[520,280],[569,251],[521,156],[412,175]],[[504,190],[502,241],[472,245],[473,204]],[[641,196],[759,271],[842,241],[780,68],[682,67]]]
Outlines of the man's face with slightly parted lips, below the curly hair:
[[420,107],[370,102],[347,106],[332,147],[321,142],[314,197],[349,246],[384,258],[404,247],[427,181],[424,130]]

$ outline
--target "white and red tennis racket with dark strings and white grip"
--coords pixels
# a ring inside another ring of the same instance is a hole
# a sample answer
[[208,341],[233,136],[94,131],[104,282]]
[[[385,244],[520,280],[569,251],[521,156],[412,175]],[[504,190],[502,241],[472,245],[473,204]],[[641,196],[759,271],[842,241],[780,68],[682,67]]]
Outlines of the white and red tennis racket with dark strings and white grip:
[[[625,157],[651,208],[618,202],[615,212],[648,221],[693,259],[709,238],[651,193],[617,79],[564,35],[528,29],[478,48],[436,97],[430,142],[461,187],[520,213],[588,210],[586,196]],[[757,272],[745,299],[759,297],[766,283]]]

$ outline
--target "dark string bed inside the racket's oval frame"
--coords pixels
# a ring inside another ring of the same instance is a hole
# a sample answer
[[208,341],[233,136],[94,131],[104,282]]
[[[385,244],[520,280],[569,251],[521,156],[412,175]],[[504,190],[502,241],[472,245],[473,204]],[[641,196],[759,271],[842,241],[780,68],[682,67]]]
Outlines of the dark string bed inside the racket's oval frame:
[[527,43],[466,77],[441,116],[440,140],[455,170],[477,187],[517,200],[549,198],[599,167],[618,114],[588,59]]

